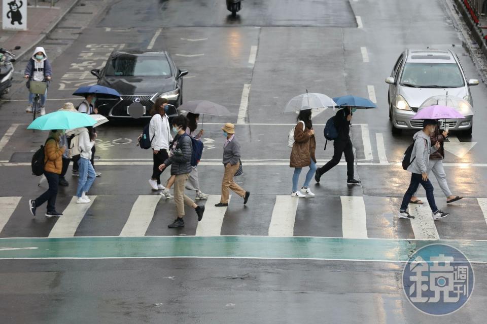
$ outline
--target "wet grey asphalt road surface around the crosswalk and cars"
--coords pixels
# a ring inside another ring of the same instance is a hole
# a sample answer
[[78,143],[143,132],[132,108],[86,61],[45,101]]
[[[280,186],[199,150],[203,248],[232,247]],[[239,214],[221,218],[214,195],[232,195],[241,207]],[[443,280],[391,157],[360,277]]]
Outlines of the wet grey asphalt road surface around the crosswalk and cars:
[[[241,199],[232,197],[218,234],[269,235],[277,196],[291,191],[286,140],[295,115],[281,114],[291,97],[306,90],[368,97],[368,86],[372,86],[379,109],[359,111],[352,127],[356,176],[363,185],[347,187],[343,165],[323,176],[320,185],[312,181],[317,197],[299,202],[293,235],[346,237],[343,197],[357,196],[363,197],[368,238],[420,238],[409,221],[396,216],[409,175],[390,163],[401,160],[413,132],[391,134],[384,79],[404,48],[426,46],[454,50],[467,78],[483,78],[482,66],[475,65],[478,58],[469,51],[447,2],[334,0],[300,1],[298,5],[253,0],[245,1],[235,19],[228,15],[224,2],[216,0],[85,3],[46,41],[48,53],[55,57],[47,110],[54,111],[64,101],[79,103],[71,96],[73,89],[93,83],[87,71],[101,66],[113,49],[146,49],[152,44],[154,50],[169,51],[178,67],[190,71],[184,78],[184,101],[209,99],[232,112],[228,117],[204,118],[206,148],[199,166],[204,192],[220,193],[220,124],[237,123],[239,112],[243,118],[236,125],[245,168],[238,182],[252,196],[246,208]],[[85,28],[87,17],[92,20]],[[362,47],[368,62],[364,62]],[[19,71],[23,64],[17,64]],[[250,85],[249,103],[242,112],[245,85]],[[483,149],[487,130],[481,123],[487,117],[485,90],[483,83],[471,88],[476,112],[473,135],[453,134],[466,146],[477,144],[467,153],[458,149],[461,145],[451,146],[445,159],[450,188],[467,198],[447,206],[440,190],[435,191],[438,206],[452,214],[436,223],[441,239],[487,239],[482,200],[477,199],[486,197],[487,189]],[[0,150],[0,197],[19,197],[0,230],[3,238],[47,237],[57,222],[43,216],[32,219],[27,211],[28,199],[39,195],[46,183],[37,186],[39,178],[31,177],[25,165],[31,151],[45,140],[44,133],[25,129],[30,121],[23,112],[25,92],[17,83],[7,96],[11,101],[0,104],[0,134],[20,124]],[[323,125],[331,113],[325,111],[314,119],[319,165],[332,155],[331,145],[322,149]],[[120,235],[137,198],[153,195],[147,185],[151,154],[135,147],[141,128],[142,123],[133,120],[111,121],[99,128],[95,165],[102,176],[90,192],[97,198],[72,236]],[[386,161],[381,157],[380,136]],[[61,211],[76,190],[76,178],[67,178],[71,185],[61,188],[58,196]],[[433,184],[437,187],[436,180]],[[174,213],[172,201],[158,201],[145,235],[197,234],[193,212],[186,215],[185,228],[167,229]],[[363,245],[367,249],[367,240]],[[67,319],[213,323],[237,322],[243,316],[245,322],[476,323],[485,317],[485,267],[481,264],[475,265],[478,284],[471,300],[454,315],[442,318],[424,315],[408,303],[399,263],[189,258],[1,260],[0,264],[0,313],[12,323],[63,323]]]

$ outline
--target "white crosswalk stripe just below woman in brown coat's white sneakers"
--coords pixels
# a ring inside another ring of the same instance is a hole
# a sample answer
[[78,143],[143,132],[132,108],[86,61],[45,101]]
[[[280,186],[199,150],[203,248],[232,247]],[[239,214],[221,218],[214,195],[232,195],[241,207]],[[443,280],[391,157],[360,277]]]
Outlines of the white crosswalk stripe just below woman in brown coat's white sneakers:
[[275,196],[274,209],[269,224],[269,236],[294,236],[294,222],[299,199],[291,195]]

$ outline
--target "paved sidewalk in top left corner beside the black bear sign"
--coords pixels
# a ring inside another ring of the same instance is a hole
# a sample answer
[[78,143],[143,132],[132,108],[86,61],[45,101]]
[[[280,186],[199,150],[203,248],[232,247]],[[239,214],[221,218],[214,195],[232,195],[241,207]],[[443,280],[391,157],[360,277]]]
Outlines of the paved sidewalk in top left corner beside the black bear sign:
[[[51,8],[49,7],[50,2],[38,1],[38,7],[27,7],[28,30],[0,29],[0,47],[9,50],[17,45],[22,47],[21,50],[15,52],[18,60],[22,59],[25,54],[30,55],[33,48],[44,40],[78,2],[79,0],[59,0],[55,7]],[[27,0],[24,3],[27,3]],[[33,1],[30,0],[30,3],[33,4]],[[0,15],[0,26],[2,25],[2,16]]]

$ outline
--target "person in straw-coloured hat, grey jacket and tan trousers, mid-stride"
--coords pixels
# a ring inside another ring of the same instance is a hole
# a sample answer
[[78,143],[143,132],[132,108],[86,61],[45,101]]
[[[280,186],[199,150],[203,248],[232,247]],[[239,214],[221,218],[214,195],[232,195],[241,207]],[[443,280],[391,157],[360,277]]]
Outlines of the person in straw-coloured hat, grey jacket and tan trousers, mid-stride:
[[216,207],[228,206],[229,189],[243,198],[243,205],[247,204],[250,192],[243,190],[233,181],[233,176],[240,167],[240,144],[235,139],[235,126],[232,123],[226,123],[222,127],[225,144],[223,145],[223,165],[225,172],[222,180],[222,196],[220,203]]

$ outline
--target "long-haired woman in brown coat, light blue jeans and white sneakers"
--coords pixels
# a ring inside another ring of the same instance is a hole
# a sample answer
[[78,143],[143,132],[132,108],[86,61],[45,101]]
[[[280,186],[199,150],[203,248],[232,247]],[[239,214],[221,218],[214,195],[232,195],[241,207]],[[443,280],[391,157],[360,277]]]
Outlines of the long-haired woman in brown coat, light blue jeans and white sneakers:
[[[311,123],[311,109],[301,110],[297,121],[298,124],[294,128],[294,144],[289,164],[291,168],[294,168],[291,195],[297,198],[304,198],[306,196],[314,197],[315,194],[309,189],[309,182],[316,171],[316,139],[315,130]],[[299,175],[304,167],[309,167],[309,170],[306,173],[301,191],[298,191]]]

